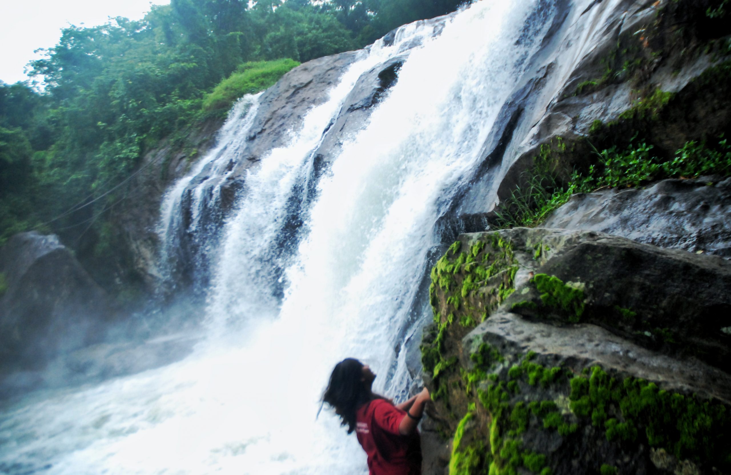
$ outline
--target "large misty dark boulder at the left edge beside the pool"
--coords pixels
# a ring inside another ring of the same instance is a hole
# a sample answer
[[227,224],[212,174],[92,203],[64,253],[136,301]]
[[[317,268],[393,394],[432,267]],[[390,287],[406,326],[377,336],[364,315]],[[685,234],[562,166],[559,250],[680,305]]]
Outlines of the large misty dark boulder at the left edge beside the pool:
[[55,235],[15,235],[0,249],[0,368],[43,365],[101,341],[115,318],[106,293]]

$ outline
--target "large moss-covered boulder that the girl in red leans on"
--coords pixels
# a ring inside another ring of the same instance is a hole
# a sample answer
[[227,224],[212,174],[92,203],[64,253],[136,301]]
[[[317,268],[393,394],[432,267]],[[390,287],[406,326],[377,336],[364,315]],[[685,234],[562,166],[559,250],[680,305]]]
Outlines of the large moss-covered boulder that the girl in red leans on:
[[726,259],[515,228],[461,235],[431,278],[425,436],[450,474],[731,468]]

